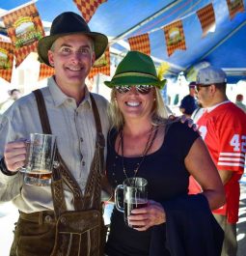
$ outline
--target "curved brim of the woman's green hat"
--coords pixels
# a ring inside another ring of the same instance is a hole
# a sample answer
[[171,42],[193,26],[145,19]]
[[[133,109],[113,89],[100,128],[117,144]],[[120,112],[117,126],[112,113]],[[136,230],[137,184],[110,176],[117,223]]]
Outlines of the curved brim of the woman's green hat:
[[111,81],[105,81],[104,84],[108,86],[109,88],[114,88],[116,86],[121,85],[153,85],[159,89],[162,89],[167,80],[155,80],[149,77],[139,77],[139,76],[125,76],[125,77],[119,77],[119,78],[113,78]]

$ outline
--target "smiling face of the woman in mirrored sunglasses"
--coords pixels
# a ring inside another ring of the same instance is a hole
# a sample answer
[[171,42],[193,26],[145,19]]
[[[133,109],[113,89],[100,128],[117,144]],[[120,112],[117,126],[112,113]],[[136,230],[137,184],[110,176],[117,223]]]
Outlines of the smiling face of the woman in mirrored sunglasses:
[[119,90],[115,89],[115,96],[124,119],[150,118],[153,101],[155,99],[153,87],[142,88],[141,86],[131,86],[128,87],[127,92],[126,90],[122,90],[123,86],[117,88],[119,88]]

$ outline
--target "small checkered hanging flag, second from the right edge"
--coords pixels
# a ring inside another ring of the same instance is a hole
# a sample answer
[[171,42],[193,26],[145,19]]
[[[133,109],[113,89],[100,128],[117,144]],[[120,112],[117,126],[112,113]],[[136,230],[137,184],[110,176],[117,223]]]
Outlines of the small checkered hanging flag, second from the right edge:
[[199,17],[202,29],[203,29],[203,38],[208,32],[215,31],[215,15],[213,11],[212,4],[205,6],[197,12]]

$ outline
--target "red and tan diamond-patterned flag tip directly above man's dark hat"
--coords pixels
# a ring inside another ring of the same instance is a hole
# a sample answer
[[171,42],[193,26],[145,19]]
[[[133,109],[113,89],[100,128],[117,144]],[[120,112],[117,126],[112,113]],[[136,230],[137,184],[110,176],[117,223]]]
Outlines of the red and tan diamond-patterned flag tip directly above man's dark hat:
[[95,14],[97,7],[100,4],[107,2],[107,0],[73,0],[73,2],[88,23]]

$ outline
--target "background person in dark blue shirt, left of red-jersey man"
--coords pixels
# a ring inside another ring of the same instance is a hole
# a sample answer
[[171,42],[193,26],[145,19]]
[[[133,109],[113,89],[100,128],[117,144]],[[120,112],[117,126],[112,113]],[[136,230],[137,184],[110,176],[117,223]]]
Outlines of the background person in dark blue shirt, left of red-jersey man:
[[189,94],[186,95],[180,103],[179,110],[186,117],[190,118],[194,110],[198,107],[195,99],[196,82],[189,83]]

